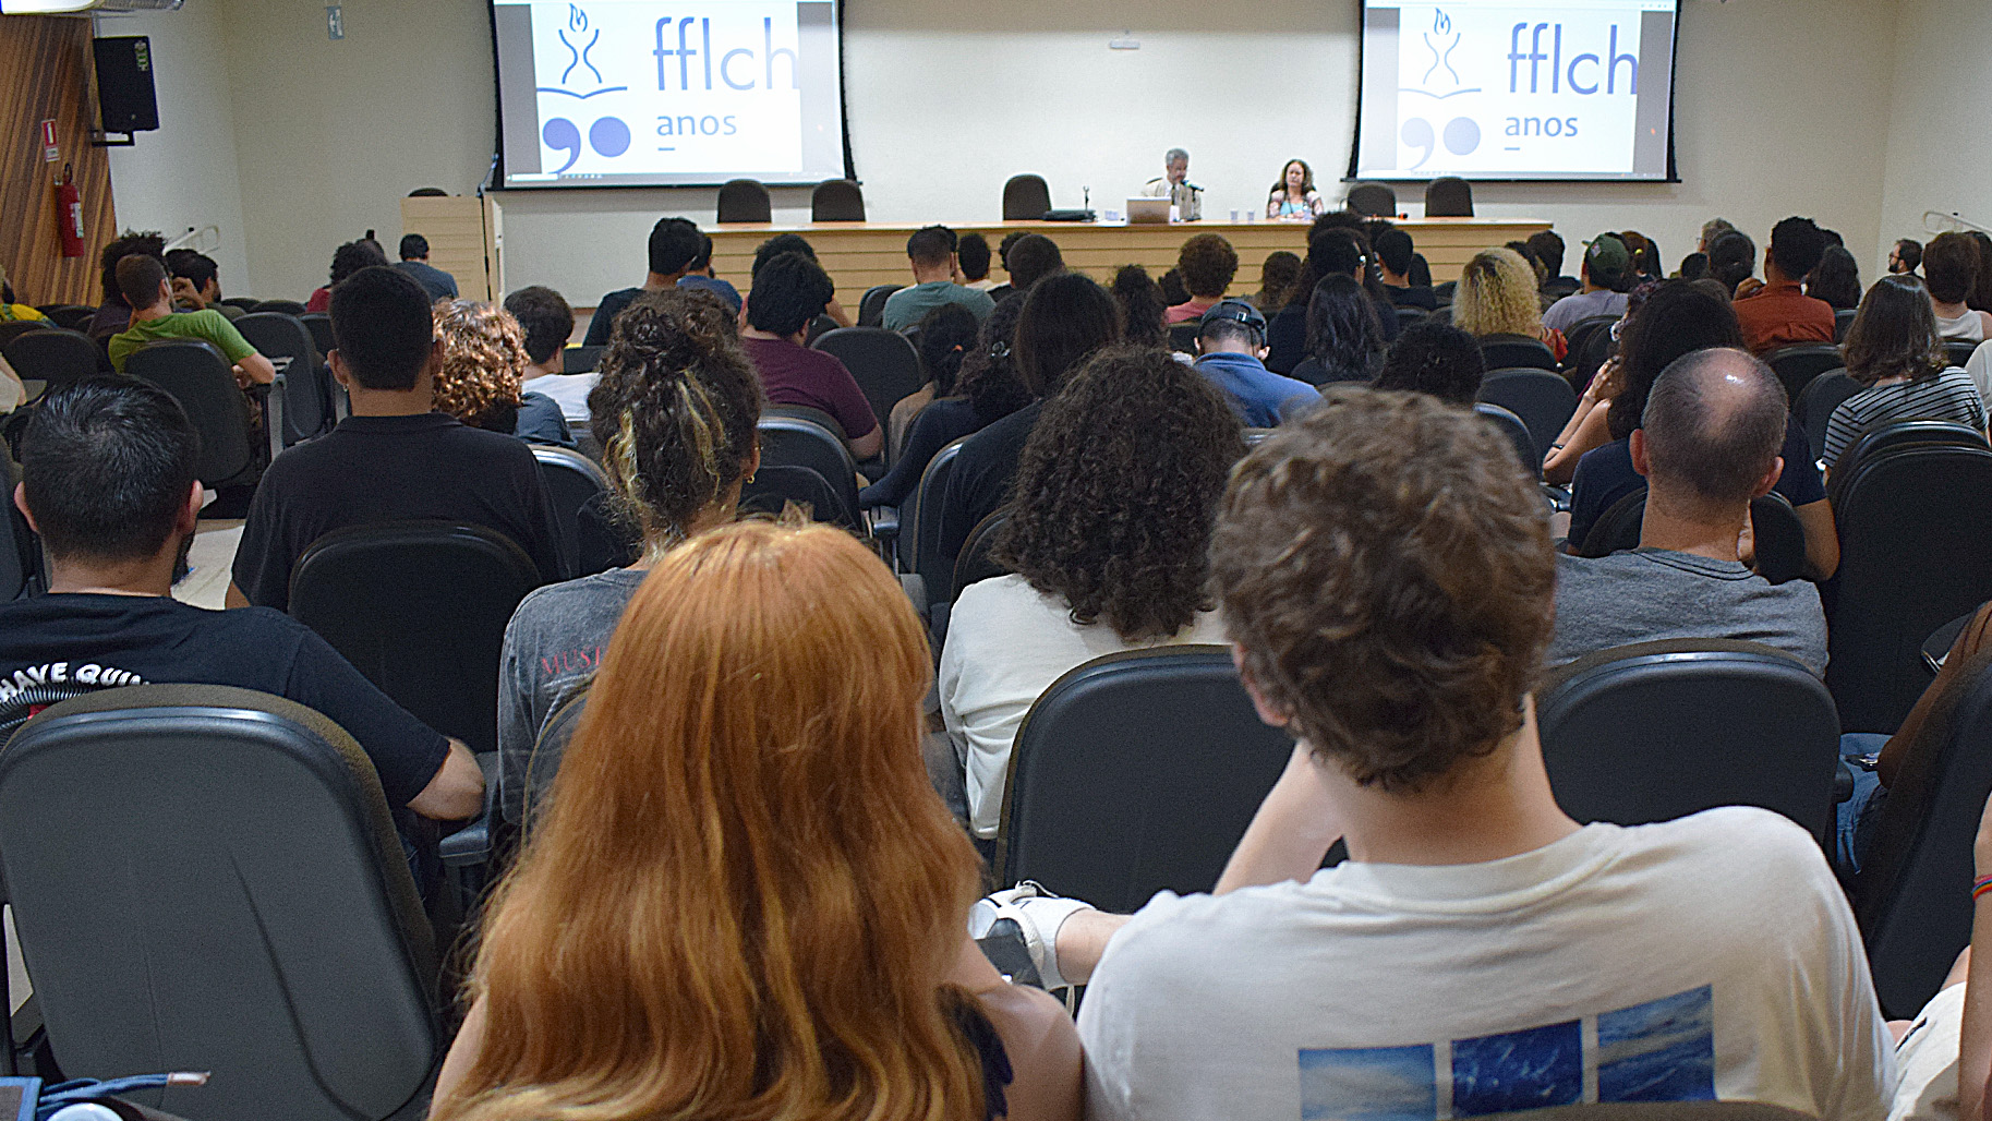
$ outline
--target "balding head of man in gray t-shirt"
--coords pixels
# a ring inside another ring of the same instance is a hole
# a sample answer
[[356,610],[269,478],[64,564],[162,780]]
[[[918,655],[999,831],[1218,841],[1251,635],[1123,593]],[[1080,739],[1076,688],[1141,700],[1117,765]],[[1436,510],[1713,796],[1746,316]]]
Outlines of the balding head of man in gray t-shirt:
[[1785,386],[1751,354],[1691,350],[1653,380],[1639,428],[1647,484],[1709,506],[1747,506],[1785,444]]

